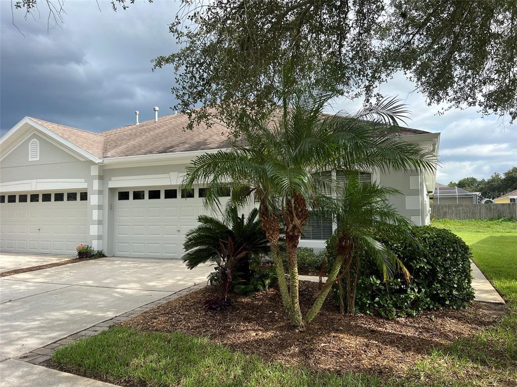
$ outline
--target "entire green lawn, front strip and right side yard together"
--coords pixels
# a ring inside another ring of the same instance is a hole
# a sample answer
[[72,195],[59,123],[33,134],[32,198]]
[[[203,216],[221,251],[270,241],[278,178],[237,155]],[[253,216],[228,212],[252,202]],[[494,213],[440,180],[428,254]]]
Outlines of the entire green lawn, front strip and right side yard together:
[[[54,364],[80,375],[138,386],[514,386],[517,385],[517,223],[434,221],[472,247],[474,261],[508,301],[496,327],[436,348],[405,377],[314,374],[305,367],[264,362],[180,333],[112,328],[58,349]],[[339,356],[339,355],[338,355]]]

